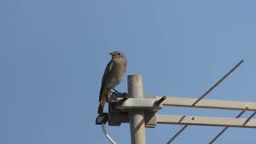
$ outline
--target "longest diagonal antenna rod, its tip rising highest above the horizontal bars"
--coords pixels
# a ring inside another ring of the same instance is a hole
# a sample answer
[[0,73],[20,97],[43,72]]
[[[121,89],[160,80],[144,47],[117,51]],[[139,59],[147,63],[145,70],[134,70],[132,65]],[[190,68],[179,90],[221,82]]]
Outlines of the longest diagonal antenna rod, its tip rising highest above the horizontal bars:
[[[238,66],[240,66],[240,65],[242,64],[242,62],[243,62],[243,59],[242,59],[240,62],[238,62],[238,63],[237,63],[228,73],[226,73],[222,78],[220,78],[220,79],[218,80],[218,82],[216,82],[213,86],[211,86],[209,90],[207,90],[204,94],[202,94],[202,96],[199,97],[198,100],[195,101],[192,106],[195,106],[198,102],[200,102],[200,101],[202,100],[202,98],[205,98],[207,94],[209,94],[212,90],[214,90],[214,88],[215,88],[216,86],[218,86],[218,85],[219,85],[221,82],[223,82],[223,80],[225,80],[232,72],[234,72],[234,70],[236,70],[236,69],[238,68]],[[174,139],[177,138],[178,135],[181,134],[182,131],[185,130],[187,126],[188,126],[188,125],[185,125],[185,126],[182,127],[181,130],[178,130],[178,133],[175,134],[173,138],[170,138],[170,141],[168,141],[167,144],[170,144],[170,142],[174,141]]]

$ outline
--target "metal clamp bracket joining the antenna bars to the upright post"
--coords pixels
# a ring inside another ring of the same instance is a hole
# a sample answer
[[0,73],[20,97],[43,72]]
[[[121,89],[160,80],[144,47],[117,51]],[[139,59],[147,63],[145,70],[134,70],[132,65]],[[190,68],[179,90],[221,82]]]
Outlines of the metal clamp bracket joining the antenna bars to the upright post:
[[120,126],[129,122],[129,109],[143,109],[145,126],[155,127],[157,125],[156,113],[162,109],[162,98],[128,98],[127,95],[110,95],[108,122],[110,126]]

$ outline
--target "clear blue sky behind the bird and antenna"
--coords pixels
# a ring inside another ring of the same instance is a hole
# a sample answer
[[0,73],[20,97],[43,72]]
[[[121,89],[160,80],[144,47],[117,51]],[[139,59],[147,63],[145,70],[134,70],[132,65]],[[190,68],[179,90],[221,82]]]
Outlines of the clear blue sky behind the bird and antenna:
[[[198,98],[244,58],[207,98],[256,102],[255,6],[253,0],[0,1],[0,143],[108,143],[94,120],[114,50],[126,54],[127,74],[142,74],[146,94],[187,98]],[[126,79],[117,89],[126,92]],[[165,143],[180,127],[147,129],[146,142]],[[130,143],[127,124],[106,128],[116,142]],[[204,144],[221,129],[190,126],[174,143]],[[255,134],[231,128],[216,143],[255,143]]]

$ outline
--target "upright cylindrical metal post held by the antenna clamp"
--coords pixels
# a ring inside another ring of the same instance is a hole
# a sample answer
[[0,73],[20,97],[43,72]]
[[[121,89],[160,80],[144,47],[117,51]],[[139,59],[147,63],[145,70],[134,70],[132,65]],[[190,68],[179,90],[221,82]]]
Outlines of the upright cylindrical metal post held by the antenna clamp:
[[[143,98],[141,75],[128,75],[128,96]],[[130,109],[129,121],[131,144],[146,144],[144,110]]]

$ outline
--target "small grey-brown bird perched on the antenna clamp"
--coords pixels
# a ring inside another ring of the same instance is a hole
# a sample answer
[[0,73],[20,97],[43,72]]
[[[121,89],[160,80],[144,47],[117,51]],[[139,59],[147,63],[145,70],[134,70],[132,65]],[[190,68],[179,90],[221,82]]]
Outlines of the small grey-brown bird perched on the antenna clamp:
[[[98,114],[102,114],[110,90],[114,90],[126,75],[127,59],[121,51],[113,51],[111,60],[107,64],[102,77],[102,86],[99,93]],[[116,90],[115,90],[116,91]]]

